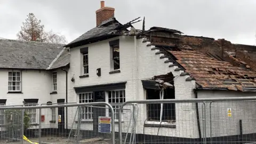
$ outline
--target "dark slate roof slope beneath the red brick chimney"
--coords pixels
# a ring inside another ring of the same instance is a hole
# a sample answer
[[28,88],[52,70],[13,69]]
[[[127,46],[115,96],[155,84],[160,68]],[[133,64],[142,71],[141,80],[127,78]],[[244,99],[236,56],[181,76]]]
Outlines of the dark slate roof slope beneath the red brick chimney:
[[83,35],[76,38],[74,41],[70,42],[66,45],[66,47],[69,47],[73,44],[82,42],[82,41],[90,41],[93,38],[101,37],[101,36],[107,36],[115,31],[115,28],[118,28],[122,24],[119,23],[115,18],[111,18],[109,20],[106,20],[101,23],[98,27],[95,27]]

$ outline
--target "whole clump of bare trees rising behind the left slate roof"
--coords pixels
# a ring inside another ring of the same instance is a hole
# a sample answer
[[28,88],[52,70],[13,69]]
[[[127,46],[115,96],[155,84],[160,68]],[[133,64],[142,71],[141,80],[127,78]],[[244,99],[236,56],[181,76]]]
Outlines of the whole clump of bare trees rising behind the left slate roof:
[[17,36],[19,40],[23,41],[67,44],[65,36],[54,33],[52,30],[44,31],[41,20],[38,20],[33,13],[29,13],[26,21],[22,22],[21,30]]

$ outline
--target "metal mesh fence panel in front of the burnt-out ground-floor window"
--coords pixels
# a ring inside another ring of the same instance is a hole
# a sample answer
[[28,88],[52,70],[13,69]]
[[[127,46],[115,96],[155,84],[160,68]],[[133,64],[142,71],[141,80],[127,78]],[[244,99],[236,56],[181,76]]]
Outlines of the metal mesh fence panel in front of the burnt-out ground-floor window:
[[[156,101],[134,103],[132,115],[122,117],[123,143],[198,143],[197,106],[204,109],[203,102]],[[204,116],[203,116],[204,117]],[[202,127],[202,129],[204,126]]]

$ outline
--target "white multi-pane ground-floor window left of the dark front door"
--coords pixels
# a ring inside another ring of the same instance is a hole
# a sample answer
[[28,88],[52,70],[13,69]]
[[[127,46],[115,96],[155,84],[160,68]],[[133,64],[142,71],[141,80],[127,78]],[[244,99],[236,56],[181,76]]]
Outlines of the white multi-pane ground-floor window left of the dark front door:
[[[79,103],[90,103],[89,101],[93,102],[93,92],[78,93],[78,102]],[[81,110],[82,111],[80,111],[79,114],[81,114],[81,119],[82,120],[91,120],[91,119],[93,119],[92,107],[86,107],[85,106],[85,107],[82,107]]]

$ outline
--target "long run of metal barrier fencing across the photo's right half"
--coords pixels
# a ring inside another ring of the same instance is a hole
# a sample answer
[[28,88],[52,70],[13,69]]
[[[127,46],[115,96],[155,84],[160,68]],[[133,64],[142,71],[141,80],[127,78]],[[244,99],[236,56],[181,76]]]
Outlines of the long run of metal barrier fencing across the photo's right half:
[[118,121],[119,143],[256,143],[256,97],[126,101]]

